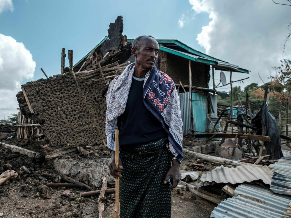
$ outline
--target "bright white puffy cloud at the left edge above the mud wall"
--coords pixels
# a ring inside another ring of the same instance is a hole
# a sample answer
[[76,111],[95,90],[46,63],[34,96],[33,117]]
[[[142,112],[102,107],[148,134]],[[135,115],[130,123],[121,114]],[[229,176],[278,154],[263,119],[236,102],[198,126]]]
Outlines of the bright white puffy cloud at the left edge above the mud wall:
[[36,62],[23,43],[0,33],[0,119],[17,112],[23,79],[34,76]]

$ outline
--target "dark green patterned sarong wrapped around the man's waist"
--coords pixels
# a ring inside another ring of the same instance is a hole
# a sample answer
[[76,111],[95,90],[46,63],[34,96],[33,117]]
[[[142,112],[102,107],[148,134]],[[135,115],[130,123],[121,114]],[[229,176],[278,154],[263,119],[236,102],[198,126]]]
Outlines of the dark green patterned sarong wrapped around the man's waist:
[[[166,147],[166,138],[141,145],[133,151],[152,151]],[[141,158],[123,152],[119,183],[120,218],[170,218],[171,189],[164,184],[171,167],[167,149],[155,157]]]

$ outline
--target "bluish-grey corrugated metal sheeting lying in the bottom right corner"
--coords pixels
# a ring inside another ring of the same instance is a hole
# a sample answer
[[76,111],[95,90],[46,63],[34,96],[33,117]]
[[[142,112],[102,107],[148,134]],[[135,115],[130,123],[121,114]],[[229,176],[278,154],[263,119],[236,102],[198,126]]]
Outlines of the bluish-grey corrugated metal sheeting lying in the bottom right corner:
[[[283,218],[291,197],[274,194],[257,185],[239,185],[232,198],[221,201],[211,218]],[[286,216],[285,216],[286,217]]]

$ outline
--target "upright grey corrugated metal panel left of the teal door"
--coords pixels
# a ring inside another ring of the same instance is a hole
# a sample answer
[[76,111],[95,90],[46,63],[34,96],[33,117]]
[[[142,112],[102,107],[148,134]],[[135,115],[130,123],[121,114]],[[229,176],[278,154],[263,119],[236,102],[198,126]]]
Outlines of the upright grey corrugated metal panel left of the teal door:
[[190,92],[179,93],[181,115],[183,121],[183,133],[185,135],[191,133],[191,101]]

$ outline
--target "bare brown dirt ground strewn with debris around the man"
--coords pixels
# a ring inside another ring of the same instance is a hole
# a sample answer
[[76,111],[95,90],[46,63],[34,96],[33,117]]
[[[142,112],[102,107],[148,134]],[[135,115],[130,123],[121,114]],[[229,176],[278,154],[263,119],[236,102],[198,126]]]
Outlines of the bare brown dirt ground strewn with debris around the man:
[[[22,145],[22,147],[38,150],[33,142],[24,140],[3,140],[13,135],[5,133],[1,135],[2,141],[7,144]],[[186,138],[187,140],[187,138]],[[189,142],[189,141],[188,141]],[[185,143],[187,144],[187,143]],[[188,143],[189,144],[189,143]],[[199,145],[198,142],[195,144]],[[192,144],[193,146],[193,144]],[[98,151],[100,152],[100,151]],[[77,156],[77,154],[74,154]],[[107,155],[106,155],[107,156]],[[84,156],[82,158],[85,158]],[[90,156],[89,158],[98,158]],[[194,170],[190,163],[196,162],[187,157],[181,165],[181,170]],[[25,173],[21,167],[25,165],[30,174]],[[205,163],[205,167],[195,170],[208,171],[216,165]],[[79,197],[80,192],[87,190],[71,188],[70,196],[63,196],[65,188],[47,187],[46,182],[60,182],[58,178],[46,178],[41,176],[41,172],[61,176],[52,165],[52,161],[44,162],[35,160],[27,156],[12,153],[9,149],[0,146],[0,174],[13,169],[18,172],[15,180],[6,181],[0,186],[0,215],[7,218],[71,218],[71,217],[97,217],[98,196]],[[172,217],[210,217],[211,211],[216,204],[195,196],[191,192],[173,190],[172,192]],[[115,194],[106,194],[104,201],[104,218],[114,217]]]

